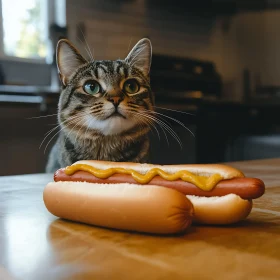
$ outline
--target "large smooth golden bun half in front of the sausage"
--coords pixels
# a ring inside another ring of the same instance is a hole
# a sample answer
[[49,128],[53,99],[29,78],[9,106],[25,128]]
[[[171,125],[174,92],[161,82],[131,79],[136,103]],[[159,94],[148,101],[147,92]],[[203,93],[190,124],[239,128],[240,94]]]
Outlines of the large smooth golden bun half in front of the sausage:
[[185,195],[151,185],[51,182],[43,199],[57,217],[129,231],[178,233],[191,225],[193,217]]

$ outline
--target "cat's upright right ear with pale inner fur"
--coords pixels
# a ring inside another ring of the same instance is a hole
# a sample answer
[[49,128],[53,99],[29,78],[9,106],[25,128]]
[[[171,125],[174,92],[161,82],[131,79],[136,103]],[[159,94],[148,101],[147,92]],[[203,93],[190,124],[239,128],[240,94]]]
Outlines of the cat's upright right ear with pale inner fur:
[[152,44],[147,38],[141,39],[130,51],[125,61],[139,68],[146,76],[150,73],[152,62]]

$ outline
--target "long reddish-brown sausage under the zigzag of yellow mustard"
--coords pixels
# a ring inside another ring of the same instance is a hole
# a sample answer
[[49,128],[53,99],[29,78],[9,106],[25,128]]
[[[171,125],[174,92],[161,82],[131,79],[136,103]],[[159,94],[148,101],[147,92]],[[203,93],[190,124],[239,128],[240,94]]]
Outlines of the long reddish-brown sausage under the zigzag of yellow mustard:
[[[107,179],[99,179],[94,175],[78,171],[73,175],[66,175],[64,168],[58,169],[54,173],[54,181],[73,181],[73,182],[89,182],[89,183],[131,183],[137,184],[131,175],[127,174],[114,174]],[[257,178],[235,178],[220,181],[211,191],[203,191],[196,187],[194,184],[185,182],[183,180],[167,181],[160,176],[155,176],[146,185],[157,185],[175,189],[185,195],[195,196],[224,196],[227,194],[236,194],[243,199],[256,199],[261,197],[265,192],[264,182]]]

